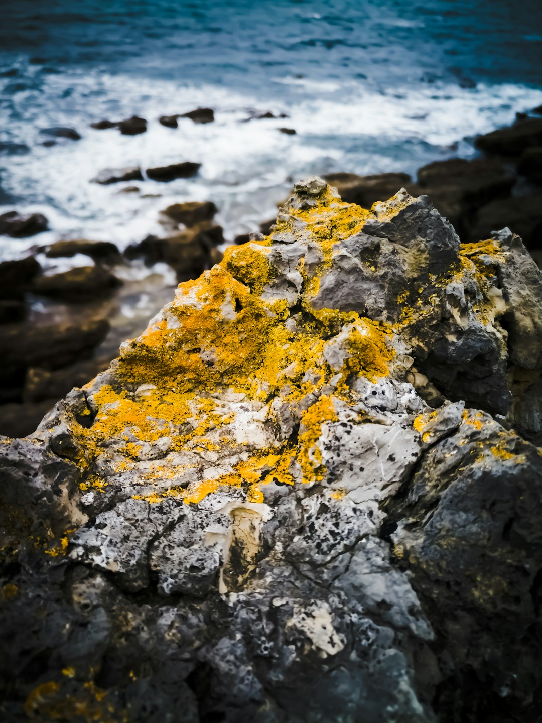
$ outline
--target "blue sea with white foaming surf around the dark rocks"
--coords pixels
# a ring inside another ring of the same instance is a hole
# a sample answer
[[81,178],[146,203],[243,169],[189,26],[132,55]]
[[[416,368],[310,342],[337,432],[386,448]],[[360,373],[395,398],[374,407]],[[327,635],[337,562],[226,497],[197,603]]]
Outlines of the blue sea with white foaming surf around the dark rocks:
[[[168,203],[207,198],[233,236],[272,215],[292,179],[414,173],[542,103],[540,0],[4,0],[1,17],[0,203],[46,213],[43,241],[124,246],[159,233]],[[197,106],[215,123],[158,124]],[[289,117],[244,122],[251,111]],[[132,114],[147,133],[89,127]],[[55,125],[82,140],[44,147]],[[197,179],[139,194],[89,182],[183,160],[202,163]],[[0,254],[25,244],[4,239]]]

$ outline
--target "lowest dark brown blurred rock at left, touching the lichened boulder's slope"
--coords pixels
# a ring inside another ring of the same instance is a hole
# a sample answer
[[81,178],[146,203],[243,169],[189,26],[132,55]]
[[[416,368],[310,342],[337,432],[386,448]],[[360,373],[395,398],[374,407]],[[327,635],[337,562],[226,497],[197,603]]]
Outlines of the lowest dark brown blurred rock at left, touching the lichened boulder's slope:
[[[27,403],[37,403],[51,399],[57,402],[74,387],[82,387],[87,382],[90,382],[99,372],[107,369],[108,365],[108,360],[88,359],[53,371],[51,369],[41,369],[40,367],[30,367],[26,372],[23,400]],[[51,405],[52,407],[53,405]],[[34,430],[31,429],[30,431],[33,432]]]

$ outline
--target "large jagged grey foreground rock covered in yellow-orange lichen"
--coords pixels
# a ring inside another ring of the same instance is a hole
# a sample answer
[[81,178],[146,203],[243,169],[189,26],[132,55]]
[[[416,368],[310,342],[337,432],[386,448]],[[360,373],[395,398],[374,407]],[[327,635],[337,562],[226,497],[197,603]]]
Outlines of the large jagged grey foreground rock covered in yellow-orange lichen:
[[1,444],[3,719],[534,721],[541,294],[297,184]]

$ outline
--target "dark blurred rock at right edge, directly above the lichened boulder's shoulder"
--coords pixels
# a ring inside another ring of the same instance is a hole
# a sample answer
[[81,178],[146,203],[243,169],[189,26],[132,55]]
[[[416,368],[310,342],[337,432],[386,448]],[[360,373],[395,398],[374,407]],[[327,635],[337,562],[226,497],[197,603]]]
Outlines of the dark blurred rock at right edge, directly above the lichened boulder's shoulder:
[[486,239],[496,228],[509,226],[525,241],[528,249],[542,248],[542,194],[531,193],[494,200],[477,213],[470,239]]

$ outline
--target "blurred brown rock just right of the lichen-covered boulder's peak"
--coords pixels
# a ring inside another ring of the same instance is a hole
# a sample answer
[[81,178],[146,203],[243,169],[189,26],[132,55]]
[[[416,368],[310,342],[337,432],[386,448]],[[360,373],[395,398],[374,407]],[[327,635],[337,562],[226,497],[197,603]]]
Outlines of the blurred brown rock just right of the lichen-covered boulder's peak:
[[377,176],[356,176],[337,173],[325,176],[325,180],[337,189],[347,203],[356,203],[361,208],[371,208],[377,201],[390,198],[400,188],[417,194],[419,187],[410,181],[408,174],[378,174]]

